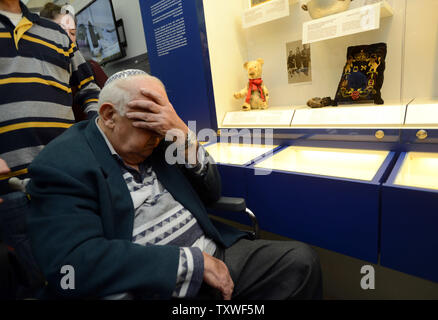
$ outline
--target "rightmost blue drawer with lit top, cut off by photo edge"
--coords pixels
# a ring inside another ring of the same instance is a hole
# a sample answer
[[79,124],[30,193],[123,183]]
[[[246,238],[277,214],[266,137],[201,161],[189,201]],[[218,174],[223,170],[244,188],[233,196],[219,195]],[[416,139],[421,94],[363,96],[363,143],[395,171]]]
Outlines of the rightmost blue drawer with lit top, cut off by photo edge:
[[403,152],[382,188],[381,264],[438,282],[438,153]]

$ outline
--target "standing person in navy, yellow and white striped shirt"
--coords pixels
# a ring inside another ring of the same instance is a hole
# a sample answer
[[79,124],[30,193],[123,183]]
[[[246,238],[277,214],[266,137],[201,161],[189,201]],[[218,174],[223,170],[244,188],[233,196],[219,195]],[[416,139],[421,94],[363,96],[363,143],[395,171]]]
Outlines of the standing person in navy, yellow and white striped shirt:
[[[14,190],[8,181],[27,178],[36,155],[74,123],[74,87],[82,110],[95,114],[100,90],[65,31],[19,0],[0,0],[0,158],[11,170],[0,175],[0,234],[25,264],[35,287],[42,277],[26,233],[29,200],[22,186]],[[31,295],[32,290],[23,290],[16,297]]]

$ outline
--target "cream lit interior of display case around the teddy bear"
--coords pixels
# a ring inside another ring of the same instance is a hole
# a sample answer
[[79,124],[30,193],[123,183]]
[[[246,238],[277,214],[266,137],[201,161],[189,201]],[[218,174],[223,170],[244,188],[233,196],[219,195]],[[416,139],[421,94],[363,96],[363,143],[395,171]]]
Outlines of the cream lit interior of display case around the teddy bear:
[[[247,3],[244,2],[244,5]],[[404,101],[400,92],[402,90],[400,65],[403,63],[400,50],[388,51],[382,89],[384,105],[339,105],[321,109],[311,109],[306,106],[306,102],[315,96],[333,98],[345,66],[348,46],[379,42],[387,43],[388,48],[400,48],[403,45],[403,33],[400,30],[403,28],[402,17],[405,14],[405,6],[393,1],[383,1],[368,6],[362,5],[363,3],[366,2],[362,0],[352,2],[352,9],[340,15],[349,16],[353,10],[378,7],[379,15],[382,11],[382,16],[393,15],[394,19],[385,19],[381,23],[379,20],[380,28],[373,32],[311,44],[312,78],[308,82],[292,84],[288,83],[287,45],[293,39],[302,38],[304,23],[320,20],[311,20],[309,13],[301,9],[302,2],[290,6],[288,17],[247,29],[242,26],[240,17],[243,10],[242,1],[240,4],[239,1],[235,1],[225,7],[217,2],[205,2],[205,27],[208,35],[209,66],[217,128],[285,129],[303,126],[375,128],[402,125],[408,101]],[[325,18],[333,16],[335,15]],[[218,23],[223,28],[217,28]],[[257,58],[263,58],[265,62],[262,79],[270,91],[269,108],[243,112],[241,106],[244,99],[234,99],[232,94],[247,84],[244,62]],[[365,107],[371,109],[366,110]],[[293,120],[289,122],[291,116]],[[325,119],[326,116],[329,118]],[[318,120],[319,123],[312,123],[309,120]],[[325,120],[328,122],[324,123]]]

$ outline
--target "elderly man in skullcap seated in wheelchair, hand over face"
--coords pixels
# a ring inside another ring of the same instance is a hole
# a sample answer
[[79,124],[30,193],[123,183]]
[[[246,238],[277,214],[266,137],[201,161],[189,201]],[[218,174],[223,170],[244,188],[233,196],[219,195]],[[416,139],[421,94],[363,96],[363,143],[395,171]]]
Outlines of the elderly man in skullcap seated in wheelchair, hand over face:
[[[198,150],[196,163],[166,161],[179,143],[163,139],[172,129],[185,135],[182,150]],[[206,205],[221,195],[216,165],[161,81],[142,71],[112,76],[99,115],[51,142],[29,172],[41,298],[321,298],[309,246],[251,241],[210,220]]]

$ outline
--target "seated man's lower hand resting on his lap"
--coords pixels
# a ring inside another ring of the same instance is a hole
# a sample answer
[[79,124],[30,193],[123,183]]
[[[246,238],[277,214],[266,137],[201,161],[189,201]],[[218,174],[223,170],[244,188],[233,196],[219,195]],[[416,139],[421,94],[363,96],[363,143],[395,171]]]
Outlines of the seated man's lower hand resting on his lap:
[[221,260],[203,252],[204,255],[204,281],[209,286],[218,289],[224,300],[231,300],[234,283],[227,266]]

